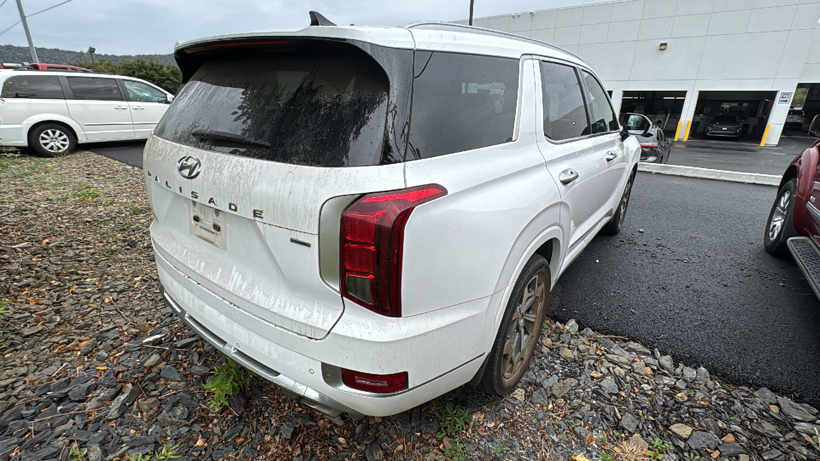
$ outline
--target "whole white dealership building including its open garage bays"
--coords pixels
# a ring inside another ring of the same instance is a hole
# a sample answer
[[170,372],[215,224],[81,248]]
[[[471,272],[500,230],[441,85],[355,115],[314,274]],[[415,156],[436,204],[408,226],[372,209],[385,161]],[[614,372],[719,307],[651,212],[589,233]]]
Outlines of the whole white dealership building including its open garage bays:
[[675,139],[702,137],[709,118],[731,112],[744,116],[743,140],[777,145],[820,113],[818,19],[820,0],[628,0],[473,25],[576,54],[616,112],[644,113]]

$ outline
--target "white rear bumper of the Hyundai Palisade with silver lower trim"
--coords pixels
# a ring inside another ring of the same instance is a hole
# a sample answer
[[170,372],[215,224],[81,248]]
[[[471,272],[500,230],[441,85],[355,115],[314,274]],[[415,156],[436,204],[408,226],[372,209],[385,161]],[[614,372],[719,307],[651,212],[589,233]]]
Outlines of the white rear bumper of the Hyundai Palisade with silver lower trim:
[[[412,409],[470,381],[485,355],[485,348],[472,338],[482,337],[474,334],[476,322],[484,317],[490,299],[449,308],[476,314],[439,313],[433,317],[438,322],[414,316],[399,319],[406,322],[399,326],[389,323],[396,319],[389,319],[381,328],[345,313],[325,338],[316,340],[263,325],[268,322],[262,318],[249,318],[246,311],[180,272],[161,253],[155,255],[163,297],[198,335],[280,386],[286,395],[331,416],[343,412],[388,416]],[[357,331],[358,336],[352,333]],[[344,386],[342,367],[373,373],[407,371],[410,388],[394,394],[354,390]]]

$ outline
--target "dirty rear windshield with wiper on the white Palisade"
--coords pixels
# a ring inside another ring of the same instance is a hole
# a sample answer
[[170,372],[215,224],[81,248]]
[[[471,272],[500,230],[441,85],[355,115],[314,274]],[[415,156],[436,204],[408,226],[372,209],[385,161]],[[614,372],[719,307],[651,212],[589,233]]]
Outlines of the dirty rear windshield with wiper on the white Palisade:
[[389,82],[358,48],[204,62],[155,135],[243,157],[317,167],[376,165]]

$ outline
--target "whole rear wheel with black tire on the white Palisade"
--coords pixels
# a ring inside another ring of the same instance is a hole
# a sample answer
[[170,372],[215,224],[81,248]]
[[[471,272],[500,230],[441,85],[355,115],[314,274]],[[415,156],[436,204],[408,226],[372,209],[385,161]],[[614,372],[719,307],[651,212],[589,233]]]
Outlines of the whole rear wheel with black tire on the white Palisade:
[[539,254],[533,255],[512,287],[487,367],[478,384],[487,394],[507,394],[530,366],[549,304],[550,280],[547,260]]

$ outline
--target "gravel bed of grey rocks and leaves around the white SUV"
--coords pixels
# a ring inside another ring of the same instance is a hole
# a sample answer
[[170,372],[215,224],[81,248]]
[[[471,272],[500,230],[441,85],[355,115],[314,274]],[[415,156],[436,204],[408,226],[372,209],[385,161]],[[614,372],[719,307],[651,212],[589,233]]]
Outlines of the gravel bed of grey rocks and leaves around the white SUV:
[[0,162],[0,185],[0,461],[174,446],[182,461],[820,459],[817,409],[575,321],[548,320],[503,398],[463,386],[331,421],[254,378],[215,412],[203,383],[224,358],[158,294],[141,171],[93,153],[20,157]]

